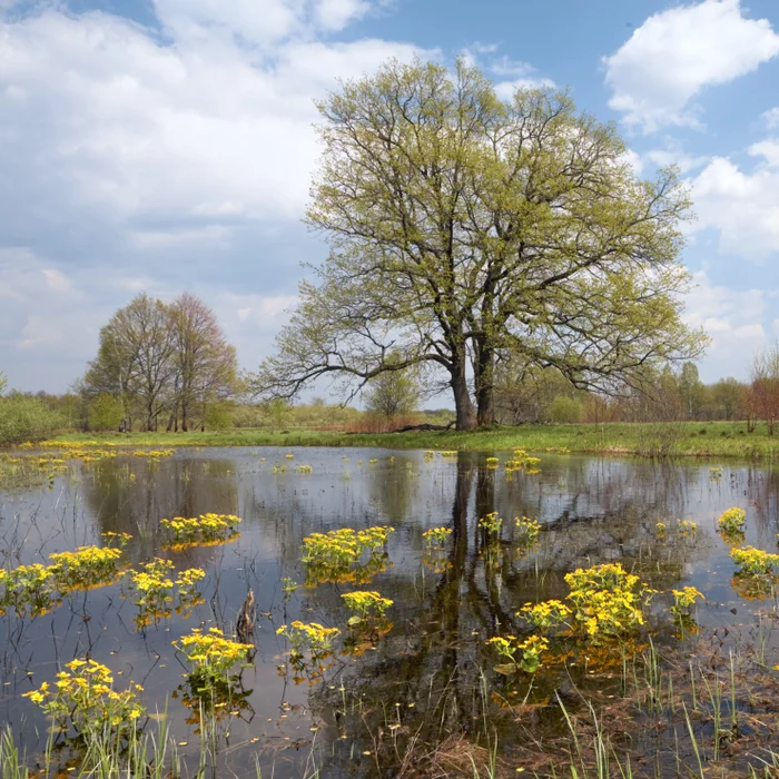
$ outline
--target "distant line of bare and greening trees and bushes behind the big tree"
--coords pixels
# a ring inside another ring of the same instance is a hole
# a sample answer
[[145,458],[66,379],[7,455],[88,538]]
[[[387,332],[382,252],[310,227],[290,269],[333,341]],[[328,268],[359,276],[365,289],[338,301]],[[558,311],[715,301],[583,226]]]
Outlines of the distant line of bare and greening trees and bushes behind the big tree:
[[[393,363],[394,361],[394,363]],[[398,364],[391,354],[387,364]],[[315,398],[254,402],[235,348],[214,312],[185,293],[171,303],[138,295],[100,331],[98,353],[62,395],[7,392],[0,373],[0,444],[40,440],[58,430],[189,431],[254,427],[384,432],[447,424],[454,412],[420,411],[435,387],[415,367],[386,371],[361,395],[363,410]],[[701,382],[692,362],[644,371],[611,392],[575,387],[556,368],[506,359],[495,372],[495,422],[608,423],[758,421],[779,423],[779,345],[755,356],[749,382]]]

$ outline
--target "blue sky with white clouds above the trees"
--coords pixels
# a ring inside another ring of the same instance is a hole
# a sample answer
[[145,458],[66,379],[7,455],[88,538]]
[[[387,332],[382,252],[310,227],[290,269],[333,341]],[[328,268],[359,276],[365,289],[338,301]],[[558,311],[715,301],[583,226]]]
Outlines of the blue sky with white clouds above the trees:
[[256,367],[327,253],[315,99],[417,56],[568,88],[642,176],[679,165],[701,378],[747,378],[779,338],[779,1],[0,0],[9,385],[66,391],[139,292],[198,295]]

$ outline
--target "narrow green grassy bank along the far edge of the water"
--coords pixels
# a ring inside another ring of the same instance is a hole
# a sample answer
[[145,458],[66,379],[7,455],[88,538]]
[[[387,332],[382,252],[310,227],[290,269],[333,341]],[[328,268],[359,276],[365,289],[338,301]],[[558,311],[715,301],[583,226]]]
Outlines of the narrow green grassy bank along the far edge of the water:
[[643,456],[717,456],[773,460],[779,434],[765,425],[747,432],[745,422],[610,423],[578,425],[521,425],[492,430],[412,433],[343,433],[310,430],[270,432],[230,430],[206,433],[68,434],[53,441],[72,444],[154,446],[379,446],[460,451],[505,451],[515,447],[543,452],[569,450],[592,454]]

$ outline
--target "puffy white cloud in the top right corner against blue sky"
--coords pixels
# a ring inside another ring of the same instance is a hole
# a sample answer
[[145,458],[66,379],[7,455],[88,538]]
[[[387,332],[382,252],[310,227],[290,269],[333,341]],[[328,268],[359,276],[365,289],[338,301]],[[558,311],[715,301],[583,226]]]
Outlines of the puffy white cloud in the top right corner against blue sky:
[[739,0],[704,0],[655,13],[604,58],[611,108],[645,132],[694,126],[691,101],[779,55],[766,19],[748,19]]

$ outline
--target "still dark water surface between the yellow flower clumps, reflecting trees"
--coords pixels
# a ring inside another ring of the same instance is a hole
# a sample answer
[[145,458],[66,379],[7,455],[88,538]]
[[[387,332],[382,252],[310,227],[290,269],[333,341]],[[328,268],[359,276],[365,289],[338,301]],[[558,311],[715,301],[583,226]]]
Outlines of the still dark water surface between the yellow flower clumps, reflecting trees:
[[[712,479],[711,463],[545,455],[540,473],[507,475],[505,455],[492,471],[476,453],[431,458],[422,452],[288,451],[293,460],[277,448],[211,448],[180,450],[157,463],[129,456],[71,463],[51,485],[0,493],[4,568],[99,544],[106,531],[134,536],[126,553],[136,564],[161,553],[161,517],[243,517],[231,543],[162,553],[178,570],[207,572],[205,602],[188,617],[136,630],[136,607],[114,584],[66,596],[34,619],[11,610],[0,618],[0,718],[12,723],[28,755],[42,748],[47,722],[22,693],[88,655],[116,672],[118,687],[130,679],[142,684],[150,712],[167,708],[179,752],[196,767],[197,717],[184,704],[187,668],[172,642],[199,625],[231,634],[249,588],[258,608],[257,652],[241,674],[238,713],[226,712],[218,724],[219,776],[256,776],[257,760],[263,776],[279,779],[315,770],[323,777],[398,776],[415,767],[472,776],[462,745],[479,742],[489,751],[495,740],[512,771],[541,765],[542,737],[553,746],[568,738],[558,696],[575,710],[583,703],[572,689],[618,694],[618,674],[593,677],[574,662],[573,670],[539,673],[529,690],[526,680],[492,670],[496,658],[484,641],[515,630],[514,613],[525,602],[564,596],[563,576],[578,566],[621,562],[663,592],[697,586],[707,596],[698,609],[701,635],[721,637],[726,649],[753,644],[756,614],[772,605],[734,592],[729,548],[714,532],[726,509],[741,506],[747,543],[776,551],[779,474],[771,470],[726,465]],[[275,464],[286,472],[274,473]],[[300,464],[312,473],[296,473]],[[517,553],[507,523],[497,553],[485,554],[476,521],[492,511],[506,520],[538,519],[540,545]],[[678,520],[694,521],[698,532],[658,536],[658,521],[671,527]],[[346,633],[341,594],[355,589],[325,583],[283,592],[284,578],[305,580],[304,536],[383,524],[395,527],[391,565],[362,589],[393,599],[392,629],[362,653],[336,653],[322,680],[296,683],[277,628],[299,619]],[[445,554],[431,560],[422,533],[441,525],[453,534]],[[693,648],[700,638],[680,642],[663,627],[659,614],[668,603],[662,594],[655,599],[657,640],[674,651],[700,651]],[[770,664],[776,642],[763,637],[763,643]],[[436,743],[440,753],[431,758]]]

